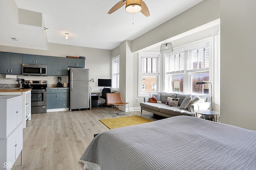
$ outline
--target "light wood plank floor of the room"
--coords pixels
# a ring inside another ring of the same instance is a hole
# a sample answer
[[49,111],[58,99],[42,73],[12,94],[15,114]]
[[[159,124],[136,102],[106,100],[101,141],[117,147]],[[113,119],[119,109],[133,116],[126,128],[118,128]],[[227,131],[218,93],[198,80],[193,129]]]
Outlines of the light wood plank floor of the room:
[[[106,107],[100,107],[32,114],[23,129],[23,165],[19,156],[12,170],[80,170],[78,160],[93,135],[109,130],[99,121],[112,118],[106,111]],[[140,115],[140,111],[130,113]],[[157,119],[146,111],[142,116]]]

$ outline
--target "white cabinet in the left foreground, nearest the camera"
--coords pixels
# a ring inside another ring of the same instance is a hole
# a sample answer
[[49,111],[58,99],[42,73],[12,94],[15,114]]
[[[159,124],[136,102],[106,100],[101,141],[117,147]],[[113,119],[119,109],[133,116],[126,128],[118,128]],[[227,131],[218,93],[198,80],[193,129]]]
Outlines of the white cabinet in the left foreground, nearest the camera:
[[22,96],[0,96],[0,169],[10,170],[23,149]]

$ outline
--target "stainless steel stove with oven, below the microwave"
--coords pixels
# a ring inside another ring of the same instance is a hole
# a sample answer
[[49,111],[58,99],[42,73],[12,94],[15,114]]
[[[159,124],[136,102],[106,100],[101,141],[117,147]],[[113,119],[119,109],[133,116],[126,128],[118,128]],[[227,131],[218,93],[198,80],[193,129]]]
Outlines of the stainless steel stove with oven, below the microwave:
[[31,113],[45,113],[47,80],[24,80],[24,88],[32,89]]

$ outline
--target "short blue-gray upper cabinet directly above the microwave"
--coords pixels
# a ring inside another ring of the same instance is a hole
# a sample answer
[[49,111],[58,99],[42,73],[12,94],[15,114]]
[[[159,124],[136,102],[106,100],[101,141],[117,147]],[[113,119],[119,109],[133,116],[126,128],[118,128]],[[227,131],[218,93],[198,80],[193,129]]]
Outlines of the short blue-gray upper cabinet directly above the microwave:
[[47,56],[44,55],[31,55],[23,54],[23,63],[24,64],[47,64]]

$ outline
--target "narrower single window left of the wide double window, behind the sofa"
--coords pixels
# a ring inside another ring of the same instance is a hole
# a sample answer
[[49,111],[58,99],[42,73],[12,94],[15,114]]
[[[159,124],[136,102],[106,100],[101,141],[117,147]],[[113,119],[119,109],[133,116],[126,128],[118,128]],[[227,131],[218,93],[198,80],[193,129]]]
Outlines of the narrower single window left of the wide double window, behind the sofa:
[[158,92],[159,84],[159,55],[160,53],[148,52],[139,54],[138,96],[148,96]]

